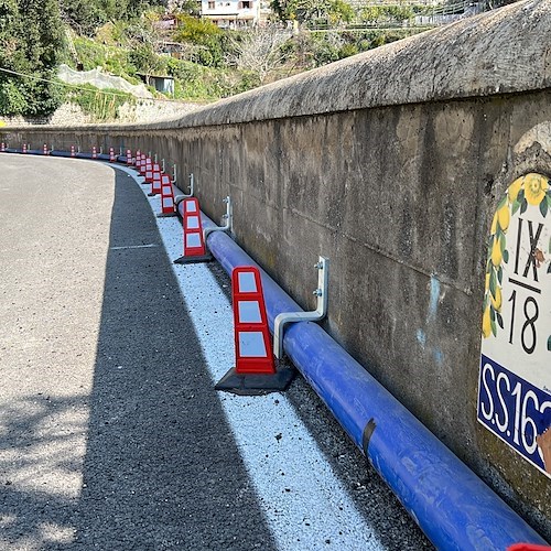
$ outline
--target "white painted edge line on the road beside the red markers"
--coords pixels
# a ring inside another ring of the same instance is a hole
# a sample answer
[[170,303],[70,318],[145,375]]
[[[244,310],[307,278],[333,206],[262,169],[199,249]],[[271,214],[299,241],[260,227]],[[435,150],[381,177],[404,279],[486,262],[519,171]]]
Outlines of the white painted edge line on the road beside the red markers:
[[[160,198],[148,199],[159,213]],[[169,258],[176,259],[180,220],[156,223]],[[214,385],[235,365],[231,306],[206,266],[173,264],[173,271]],[[385,549],[284,395],[219,399],[279,549]]]

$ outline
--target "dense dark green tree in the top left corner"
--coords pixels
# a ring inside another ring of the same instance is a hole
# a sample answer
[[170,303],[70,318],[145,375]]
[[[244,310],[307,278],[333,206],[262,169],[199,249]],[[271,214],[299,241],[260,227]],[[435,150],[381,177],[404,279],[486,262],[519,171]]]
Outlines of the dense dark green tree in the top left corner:
[[57,0],[0,0],[2,115],[48,115],[61,105],[54,80],[63,50]]

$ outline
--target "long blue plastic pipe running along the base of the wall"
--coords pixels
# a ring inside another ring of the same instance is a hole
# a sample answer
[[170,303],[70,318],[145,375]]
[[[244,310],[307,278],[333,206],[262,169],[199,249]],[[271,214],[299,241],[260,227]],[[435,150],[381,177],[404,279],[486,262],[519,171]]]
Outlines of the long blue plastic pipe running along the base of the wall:
[[[260,268],[272,332],[278,314],[302,311],[228,235],[210,234],[207,246],[228,274],[238,266]],[[283,348],[437,549],[547,543],[320,325],[290,324]]]

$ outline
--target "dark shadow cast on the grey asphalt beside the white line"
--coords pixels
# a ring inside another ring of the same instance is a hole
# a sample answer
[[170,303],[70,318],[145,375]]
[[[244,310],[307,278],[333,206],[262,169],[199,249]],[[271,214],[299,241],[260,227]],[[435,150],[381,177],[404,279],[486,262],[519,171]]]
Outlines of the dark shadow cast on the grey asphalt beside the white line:
[[[35,488],[40,480],[15,491],[8,480],[0,531],[14,548],[274,549],[177,296],[150,207],[118,172],[91,396],[13,404],[0,443],[32,473],[25,457],[60,439],[41,468],[82,473],[80,496],[56,498]],[[41,431],[86,406],[87,424],[84,417],[67,434]],[[63,444],[83,433],[84,463]]]

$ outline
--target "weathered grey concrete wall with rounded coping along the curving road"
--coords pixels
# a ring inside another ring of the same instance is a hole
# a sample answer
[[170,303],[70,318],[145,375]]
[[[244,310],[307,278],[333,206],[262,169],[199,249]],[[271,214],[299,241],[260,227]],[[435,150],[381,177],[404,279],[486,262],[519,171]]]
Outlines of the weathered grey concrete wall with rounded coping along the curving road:
[[491,218],[518,176],[551,175],[550,28],[551,2],[518,2],[177,121],[0,139],[177,163],[212,218],[231,196],[236,240],[303,307],[329,257],[326,331],[549,540],[551,479],[476,408]]

